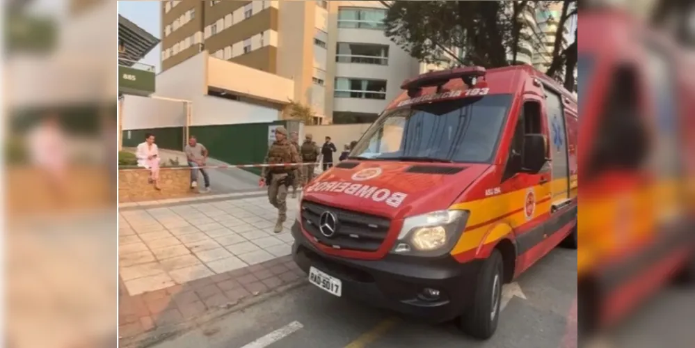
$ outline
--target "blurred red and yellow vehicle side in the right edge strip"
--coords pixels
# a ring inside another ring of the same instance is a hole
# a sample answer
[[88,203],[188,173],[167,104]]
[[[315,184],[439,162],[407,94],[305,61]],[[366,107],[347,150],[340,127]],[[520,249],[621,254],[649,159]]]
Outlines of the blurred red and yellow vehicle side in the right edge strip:
[[[624,10],[584,9],[578,25],[577,268],[587,338],[622,324],[672,280],[695,281],[695,64]],[[685,323],[694,318],[671,318],[684,330],[668,338],[650,327],[653,341],[631,347],[692,347]]]

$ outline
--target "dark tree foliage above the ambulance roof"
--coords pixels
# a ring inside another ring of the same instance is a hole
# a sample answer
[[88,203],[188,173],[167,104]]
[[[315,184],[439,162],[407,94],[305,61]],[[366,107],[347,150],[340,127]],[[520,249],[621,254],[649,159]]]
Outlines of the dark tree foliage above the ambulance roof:
[[[510,1],[382,1],[388,7],[385,35],[410,56],[426,63],[440,62],[450,53],[450,47],[457,47],[466,52],[459,60],[463,65],[503,67],[517,63],[520,39],[528,35],[522,29],[529,6],[544,10],[559,2],[511,1],[507,6]],[[571,90],[575,78],[570,66],[577,64],[577,44],[575,40],[562,49],[561,28],[577,15],[577,0],[562,2],[561,16],[555,18],[560,29],[555,37],[550,76],[571,86]],[[560,74],[563,68],[569,70],[565,76]]]

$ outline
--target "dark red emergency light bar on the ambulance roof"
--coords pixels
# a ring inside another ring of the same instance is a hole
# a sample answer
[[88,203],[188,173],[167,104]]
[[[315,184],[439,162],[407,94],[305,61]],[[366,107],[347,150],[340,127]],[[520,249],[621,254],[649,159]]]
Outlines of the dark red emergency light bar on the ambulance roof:
[[408,97],[414,98],[422,93],[422,88],[437,87],[437,93],[442,92],[442,87],[452,79],[461,79],[463,83],[472,88],[478,79],[485,79],[486,70],[481,66],[456,68],[427,72],[413,79],[407,79],[401,84],[401,89],[408,90]]

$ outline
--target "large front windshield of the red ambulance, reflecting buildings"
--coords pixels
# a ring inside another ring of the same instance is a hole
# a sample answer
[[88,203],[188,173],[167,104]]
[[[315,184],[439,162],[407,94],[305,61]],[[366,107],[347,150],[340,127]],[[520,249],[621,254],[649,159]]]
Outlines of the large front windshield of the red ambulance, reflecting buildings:
[[351,152],[352,159],[492,161],[512,95],[466,97],[387,110]]

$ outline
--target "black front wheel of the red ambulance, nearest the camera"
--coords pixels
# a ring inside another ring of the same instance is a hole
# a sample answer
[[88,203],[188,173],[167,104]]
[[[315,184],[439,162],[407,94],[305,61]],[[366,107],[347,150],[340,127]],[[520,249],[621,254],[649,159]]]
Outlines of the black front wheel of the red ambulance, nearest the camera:
[[473,304],[467,313],[459,319],[459,328],[464,333],[479,340],[487,340],[497,330],[502,302],[502,283],[504,283],[504,266],[502,254],[493,250],[490,257],[483,262],[477,279]]

